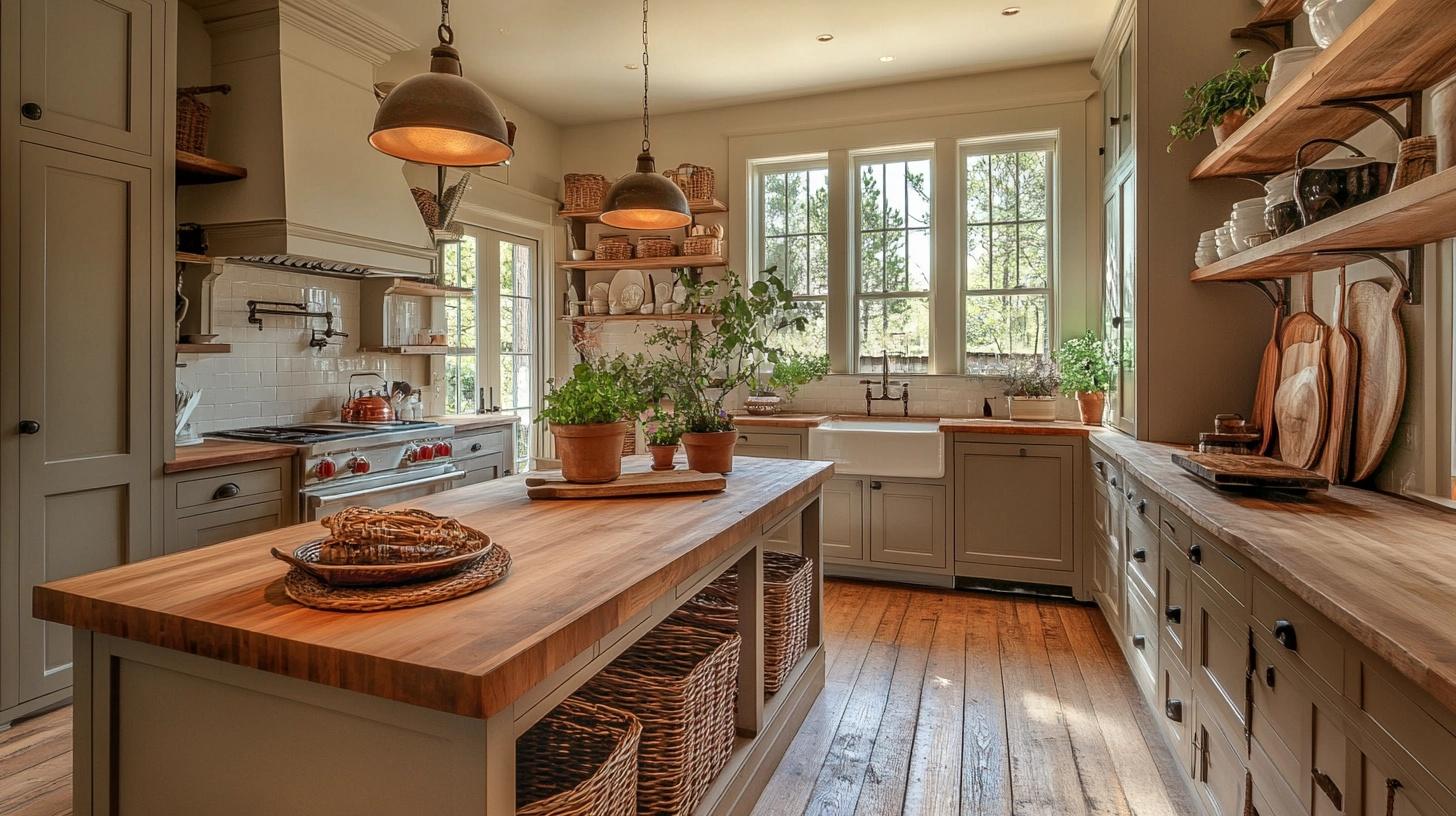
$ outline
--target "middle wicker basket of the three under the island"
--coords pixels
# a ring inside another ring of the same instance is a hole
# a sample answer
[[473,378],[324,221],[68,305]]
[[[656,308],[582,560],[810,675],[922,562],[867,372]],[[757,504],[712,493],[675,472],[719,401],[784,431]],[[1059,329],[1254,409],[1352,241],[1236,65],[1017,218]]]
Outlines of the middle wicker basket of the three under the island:
[[662,624],[577,697],[642,720],[638,813],[692,813],[732,755],[738,634]]

